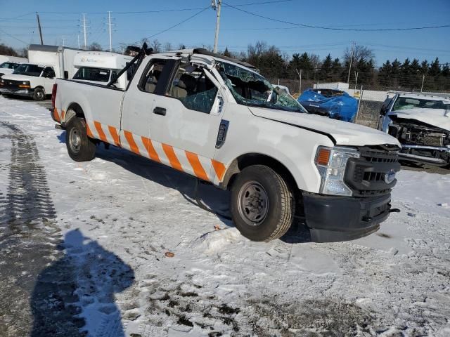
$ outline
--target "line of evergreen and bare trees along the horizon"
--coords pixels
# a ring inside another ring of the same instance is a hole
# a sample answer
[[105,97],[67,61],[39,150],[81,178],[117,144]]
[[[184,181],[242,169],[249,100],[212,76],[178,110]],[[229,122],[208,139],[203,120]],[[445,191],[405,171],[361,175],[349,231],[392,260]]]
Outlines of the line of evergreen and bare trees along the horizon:
[[[144,40],[142,41],[144,42]],[[146,41],[155,53],[184,49],[186,45],[173,46],[169,42],[162,44],[158,39]],[[212,46],[203,46],[212,51]],[[102,51],[101,45],[93,42],[89,51]],[[116,52],[121,52],[116,50]],[[395,58],[386,60],[382,67],[375,67],[375,54],[371,48],[355,45],[346,48],[341,58],[332,58],[330,54],[321,59],[314,53],[282,53],[276,46],[264,41],[249,44],[247,51],[231,52],[228,48],[220,51],[222,55],[237,58],[255,65],[264,77],[269,79],[298,80],[300,75],[305,83],[347,82],[350,85],[364,85],[366,88],[418,91],[450,91],[449,63],[439,64],[435,60],[419,61],[406,58],[400,62]],[[24,55],[13,48],[0,44],[1,55]],[[351,65],[350,65],[351,63]]]

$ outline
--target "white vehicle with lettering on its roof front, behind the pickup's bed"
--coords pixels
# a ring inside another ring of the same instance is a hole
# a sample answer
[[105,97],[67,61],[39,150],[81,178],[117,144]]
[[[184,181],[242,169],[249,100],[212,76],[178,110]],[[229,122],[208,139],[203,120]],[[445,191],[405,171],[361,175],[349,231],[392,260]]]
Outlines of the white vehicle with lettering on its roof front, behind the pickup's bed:
[[[131,60],[131,56],[106,51],[80,51],[75,55],[74,66],[77,72],[73,79],[105,85],[117,77],[117,73]],[[113,85],[124,89],[127,84],[127,74],[123,74]]]

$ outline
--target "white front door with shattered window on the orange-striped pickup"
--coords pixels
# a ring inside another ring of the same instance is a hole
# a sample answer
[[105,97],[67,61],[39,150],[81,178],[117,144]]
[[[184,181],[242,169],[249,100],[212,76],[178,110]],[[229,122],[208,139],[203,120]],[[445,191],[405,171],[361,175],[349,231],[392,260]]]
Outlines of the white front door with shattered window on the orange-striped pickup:
[[154,97],[150,137],[160,144],[163,164],[214,181],[212,159],[222,100],[219,88],[206,71],[198,65],[179,62],[165,95]]

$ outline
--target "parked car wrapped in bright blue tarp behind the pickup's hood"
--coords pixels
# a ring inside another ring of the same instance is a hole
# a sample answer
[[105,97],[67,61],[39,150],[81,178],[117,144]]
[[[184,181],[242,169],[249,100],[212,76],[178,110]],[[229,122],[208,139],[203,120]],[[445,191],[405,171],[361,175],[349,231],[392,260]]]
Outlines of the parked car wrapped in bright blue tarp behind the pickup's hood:
[[311,114],[354,122],[358,100],[345,91],[336,89],[307,89],[298,101]]

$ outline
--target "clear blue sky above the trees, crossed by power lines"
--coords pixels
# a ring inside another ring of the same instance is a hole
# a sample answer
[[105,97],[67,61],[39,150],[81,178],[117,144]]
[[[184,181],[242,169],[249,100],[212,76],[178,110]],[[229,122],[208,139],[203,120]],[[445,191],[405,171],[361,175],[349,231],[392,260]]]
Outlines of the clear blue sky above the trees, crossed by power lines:
[[[225,2],[236,5],[263,1],[269,0]],[[39,34],[34,13],[38,11],[45,44],[61,44],[64,37],[66,45],[77,46],[77,34],[83,43],[82,29],[79,27],[79,19],[82,17],[80,13],[86,12],[90,26],[88,44],[95,41],[107,47],[109,40],[105,18],[106,12],[111,11],[111,16],[115,18],[113,46],[117,47],[150,37],[200,10],[141,13],[143,11],[203,8],[210,6],[210,3],[210,0],[20,0],[18,6],[17,0],[0,0],[0,43],[15,48],[38,43]],[[239,8],[278,20],[328,27],[377,29],[450,25],[450,0],[321,0],[320,5],[315,1],[293,0]],[[118,13],[125,11],[138,13]],[[215,12],[208,9],[179,27],[151,39],[158,39],[162,43],[170,42],[175,47],[181,43],[186,46],[212,46],[214,27]],[[399,32],[330,31],[272,22],[236,11],[234,8],[222,7],[219,49],[228,46],[230,51],[246,51],[248,44],[254,44],[258,40],[275,44],[289,55],[307,51],[319,54],[321,58],[328,53],[333,58],[340,58],[345,48],[355,41],[356,44],[364,44],[373,49],[376,65],[382,65],[386,59],[394,58],[434,60],[439,57],[440,62],[450,62],[449,27]]]

